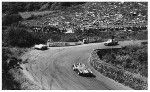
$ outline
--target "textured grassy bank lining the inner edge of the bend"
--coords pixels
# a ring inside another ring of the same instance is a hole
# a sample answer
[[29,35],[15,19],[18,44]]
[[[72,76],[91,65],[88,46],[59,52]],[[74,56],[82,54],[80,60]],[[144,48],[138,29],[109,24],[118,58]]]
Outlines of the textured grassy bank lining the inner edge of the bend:
[[123,68],[100,60],[96,51],[92,52],[91,55],[91,66],[93,66],[95,70],[97,70],[104,76],[109,77],[125,86],[129,86],[135,90],[148,89],[146,77],[132,73]]

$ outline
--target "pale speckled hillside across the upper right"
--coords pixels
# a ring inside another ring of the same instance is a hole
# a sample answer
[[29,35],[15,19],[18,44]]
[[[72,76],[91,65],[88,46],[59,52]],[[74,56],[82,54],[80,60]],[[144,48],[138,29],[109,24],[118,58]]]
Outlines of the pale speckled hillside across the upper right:
[[87,2],[45,16],[25,20],[27,26],[60,29],[137,27],[147,25],[147,2]]

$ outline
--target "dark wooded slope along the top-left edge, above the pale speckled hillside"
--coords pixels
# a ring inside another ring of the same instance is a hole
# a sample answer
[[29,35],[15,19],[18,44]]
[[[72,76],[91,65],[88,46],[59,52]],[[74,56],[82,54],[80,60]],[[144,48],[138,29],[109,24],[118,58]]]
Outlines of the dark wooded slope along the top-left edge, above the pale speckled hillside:
[[60,10],[62,7],[70,7],[84,2],[2,2],[3,14],[26,11]]

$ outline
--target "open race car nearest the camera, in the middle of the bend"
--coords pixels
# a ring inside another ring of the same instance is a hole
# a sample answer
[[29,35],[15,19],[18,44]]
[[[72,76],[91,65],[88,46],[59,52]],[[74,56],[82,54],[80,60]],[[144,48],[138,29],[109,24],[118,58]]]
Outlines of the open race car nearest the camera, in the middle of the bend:
[[83,63],[73,64],[73,70],[80,76],[92,77],[92,70],[87,68]]

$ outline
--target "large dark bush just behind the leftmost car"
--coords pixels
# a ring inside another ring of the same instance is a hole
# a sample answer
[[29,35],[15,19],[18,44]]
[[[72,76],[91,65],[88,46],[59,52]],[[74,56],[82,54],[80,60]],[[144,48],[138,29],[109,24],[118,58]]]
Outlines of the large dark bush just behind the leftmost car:
[[[6,41],[11,46],[31,47],[39,38],[33,37],[26,29],[10,27],[6,32]],[[42,41],[41,41],[42,42]]]

